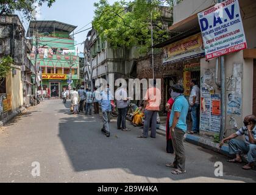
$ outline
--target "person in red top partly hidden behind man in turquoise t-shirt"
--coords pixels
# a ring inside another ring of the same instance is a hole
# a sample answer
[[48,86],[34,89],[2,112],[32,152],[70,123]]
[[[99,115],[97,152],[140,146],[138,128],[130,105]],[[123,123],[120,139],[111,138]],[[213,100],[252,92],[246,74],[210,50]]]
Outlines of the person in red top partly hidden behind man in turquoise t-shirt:
[[[169,89],[169,93],[171,94],[171,88]],[[174,104],[174,99],[170,98],[169,101],[166,103],[166,111],[167,113],[167,119],[166,119],[166,152],[169,154],[173,154],[174,150],[172,147],[172,138],[171,138],[171,132],[169,128],[169,119],[171,115],[171,109],[172,105]]]

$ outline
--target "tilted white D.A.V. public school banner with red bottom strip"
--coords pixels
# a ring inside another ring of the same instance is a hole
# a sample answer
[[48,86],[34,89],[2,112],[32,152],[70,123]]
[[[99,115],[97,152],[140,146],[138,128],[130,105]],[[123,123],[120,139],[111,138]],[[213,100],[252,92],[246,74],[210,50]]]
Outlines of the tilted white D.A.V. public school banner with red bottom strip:
[[238,0],[198,13],[207,60],[247,48]]

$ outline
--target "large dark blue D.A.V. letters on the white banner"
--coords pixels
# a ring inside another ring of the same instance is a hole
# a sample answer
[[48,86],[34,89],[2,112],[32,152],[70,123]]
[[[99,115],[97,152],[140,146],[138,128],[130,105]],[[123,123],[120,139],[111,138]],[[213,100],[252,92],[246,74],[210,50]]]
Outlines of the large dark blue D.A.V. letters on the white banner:
[[[236,18],[238,18],[240,16],[239,14],[235,15],[235,4],[231,5],[231,10],[229,10],[228,7],[226,7],[224,10],[227,13],[227,16],[229,17],[229,20],[234,19],[235,16],[236,16]],[[208,30],[208,29],[212,29],[212,27],[216,27],[218,24],[223,23],[222,19],[219,16],[213,15],[213,17],[214,17],[213,25],[209,24],[209,21],[207,18],[199,19],[199,23],[200,23],[202,32],[204,32],[205,30]],[[228,19],[225,18],[224,23],[226,23],[227,21],[228,21]]]

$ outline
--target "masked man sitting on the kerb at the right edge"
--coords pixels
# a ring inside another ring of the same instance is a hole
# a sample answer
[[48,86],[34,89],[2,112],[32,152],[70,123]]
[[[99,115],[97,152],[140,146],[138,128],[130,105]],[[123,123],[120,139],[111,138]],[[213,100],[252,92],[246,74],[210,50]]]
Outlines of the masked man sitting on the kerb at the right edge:
[[[249,115],[244,118],[244,127],[242,127],[238,132],[233,133],[229,137],[225,138],[219,144],[222,147],[226,141],[229,141],[229,153],[235,154],[236,158],[232,160],[227,160],[230,163],[241,163],[241,153],[247,154],[248,164],[243,166],[243,169],[249,170],[254,168],[254,162],[256,160],[256,117],[254,115]],[[236,137],[243,136],[245,141],[236,140]]]

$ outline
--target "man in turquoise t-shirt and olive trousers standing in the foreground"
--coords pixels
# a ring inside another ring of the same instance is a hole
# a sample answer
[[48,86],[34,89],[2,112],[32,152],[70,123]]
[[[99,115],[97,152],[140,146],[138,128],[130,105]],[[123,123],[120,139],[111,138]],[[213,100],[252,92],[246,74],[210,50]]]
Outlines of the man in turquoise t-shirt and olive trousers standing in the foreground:
[[166,166],[176,168],[172,174],[185,173],[185,148],[183,145],[183,137],[187,131],[187,115],[189,104],[187,99],[183,96],[184,88],[182,85],[176,84],[172,86],[171,97],[174,99],[172,105],[171,116],[169,119],[169,127],[172,137],[172,145],[176,157],[174,163]]

